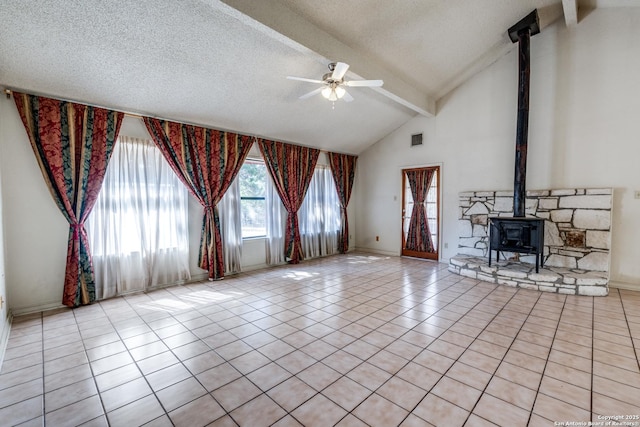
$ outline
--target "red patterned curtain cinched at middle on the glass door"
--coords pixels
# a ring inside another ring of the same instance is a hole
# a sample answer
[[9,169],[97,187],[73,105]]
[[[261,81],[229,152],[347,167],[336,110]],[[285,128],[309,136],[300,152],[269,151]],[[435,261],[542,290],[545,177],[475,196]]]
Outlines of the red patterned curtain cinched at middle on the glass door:
[[427,222],[427,210],[424,205],[434,172],[435,169],[415,169],[406,172],[413,195],[413,210],[411,211],[405,249],[418,252],[434,251],[431,231]]

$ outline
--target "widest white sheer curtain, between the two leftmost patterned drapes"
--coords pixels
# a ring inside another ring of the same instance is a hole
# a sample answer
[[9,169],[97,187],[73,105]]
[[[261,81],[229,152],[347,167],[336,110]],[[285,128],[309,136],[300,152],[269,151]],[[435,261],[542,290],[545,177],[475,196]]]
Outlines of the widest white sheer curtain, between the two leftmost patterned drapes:
[[187,198],[151,141],[118,138],[87,220],[99,299],[190,278]]

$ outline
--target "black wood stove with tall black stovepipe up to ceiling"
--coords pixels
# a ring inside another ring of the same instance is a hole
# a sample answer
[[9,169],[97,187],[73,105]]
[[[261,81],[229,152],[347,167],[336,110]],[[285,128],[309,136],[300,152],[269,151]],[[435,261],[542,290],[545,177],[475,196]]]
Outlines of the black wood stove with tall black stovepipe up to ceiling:
[[489,218],[489,266],[492,251],[496,251],[496,260],[501,251],[535,254],[536,273],[544,261],[544,219],[525,217],[525,199],[529,128],[529,41],[532,35],[539,32],[537,10],[509,28],[511,41],[518,42],[519,73],[513,217]]

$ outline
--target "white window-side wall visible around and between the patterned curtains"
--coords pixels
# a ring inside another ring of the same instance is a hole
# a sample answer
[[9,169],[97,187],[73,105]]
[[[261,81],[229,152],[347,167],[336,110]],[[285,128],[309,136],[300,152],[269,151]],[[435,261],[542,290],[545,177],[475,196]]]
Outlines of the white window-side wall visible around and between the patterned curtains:
[[[0,122],[0,188],[1,206],[4,208],[0,212],[3,214],[4,240],[8,248],[5,254],[6,299],[15,314],[59,307],[69,226],[42,179],[13,99],[0,99]],[[125,117],[120,134],[150,138],[142,121],[132,117]],[[260,156],[258,150],[253,152]],[[327,164],[324,154],[320,156],[318,164]],[[349,206],[349,214],[354,218],[350,224],[353,227],[351,234],[355,235],[354,203]],[[192,280],[207,278],[206,271],[198,267],[201,225],[202,207],[195,198],[190,197],[189,266]],[[245,241],[243,270],[266,267],[265,259],[264,239]],[[0,278],[0,295],[4,295],[3,287],[4,281]],[[0,312],[0,315],[5,313]]]

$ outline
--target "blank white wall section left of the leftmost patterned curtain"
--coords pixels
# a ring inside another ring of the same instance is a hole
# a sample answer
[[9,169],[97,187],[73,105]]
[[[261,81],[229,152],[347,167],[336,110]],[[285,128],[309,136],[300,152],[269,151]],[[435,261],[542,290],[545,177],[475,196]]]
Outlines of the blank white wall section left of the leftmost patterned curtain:
[[69,226],[42,179],[13,99],[0,100],[2,204],[9,305],[54,307],[62,301]]

